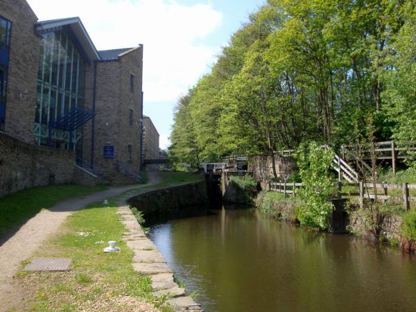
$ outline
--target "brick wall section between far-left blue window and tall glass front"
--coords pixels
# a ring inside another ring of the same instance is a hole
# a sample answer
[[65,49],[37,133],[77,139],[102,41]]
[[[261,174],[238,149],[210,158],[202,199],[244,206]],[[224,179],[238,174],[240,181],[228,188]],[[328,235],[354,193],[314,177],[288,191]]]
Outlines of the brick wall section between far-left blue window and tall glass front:
[[37,17],[25,0],[1,0],[0,15],[12,22],[5,132],[32,143],[40,51],[40,37],[33,32]]

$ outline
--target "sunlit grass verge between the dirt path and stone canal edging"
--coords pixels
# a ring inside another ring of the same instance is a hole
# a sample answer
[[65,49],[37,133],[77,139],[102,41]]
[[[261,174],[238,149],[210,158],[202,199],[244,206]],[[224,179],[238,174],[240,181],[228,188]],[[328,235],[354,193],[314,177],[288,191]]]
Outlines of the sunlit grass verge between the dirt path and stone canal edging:
[[[171,311],[166,298],[151,295],[149,277],[132,268],[132,250],[122,240],[125,227],[110,207],[89,205],[67,218],[60,234],[34,257],[69,257],[69,272],[20,272],[20,281],[35,295],[28,311]],[[107,241],[121,252],[104,254]]]

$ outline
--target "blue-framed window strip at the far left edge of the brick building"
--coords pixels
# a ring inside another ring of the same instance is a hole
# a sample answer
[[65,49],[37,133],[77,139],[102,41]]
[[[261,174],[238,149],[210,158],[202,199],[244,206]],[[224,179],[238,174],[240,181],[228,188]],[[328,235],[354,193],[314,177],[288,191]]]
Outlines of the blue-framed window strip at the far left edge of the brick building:
[[0,16],[0,131],[6,122],[7,78],[12,23]]

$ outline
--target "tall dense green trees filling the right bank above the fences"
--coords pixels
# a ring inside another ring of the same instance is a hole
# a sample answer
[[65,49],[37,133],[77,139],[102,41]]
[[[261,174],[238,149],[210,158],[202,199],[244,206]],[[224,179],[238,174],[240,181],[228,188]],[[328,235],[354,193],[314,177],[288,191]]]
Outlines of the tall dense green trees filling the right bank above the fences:
[[174,163],[270,155],[302,142],[416,141],[415,2],[268,0],[180,98]]

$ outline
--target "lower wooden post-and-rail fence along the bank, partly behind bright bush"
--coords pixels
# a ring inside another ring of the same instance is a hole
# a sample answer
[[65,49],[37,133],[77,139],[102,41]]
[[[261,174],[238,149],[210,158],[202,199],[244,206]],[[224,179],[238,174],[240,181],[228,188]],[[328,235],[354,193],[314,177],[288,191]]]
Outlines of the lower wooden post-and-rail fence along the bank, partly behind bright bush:
[[[355,186],[358,187],[358,192],[342,192],[343,186]],[[296,189],[303,187],[302,183],[294,182],[270,182],[269,190],[279,193],[296,196]],[[334,193],[333,196],[336,198],[342,198],[343,196],[358,196],[360,207],[363,208],[364,199],[377,199],[383,200],[399,200],[403,202],[403,207],[405,210],[410,209],[410,202],[416,202],[416,197],[409,196],[410,189],[416,189],[416,184],[390,184],[390,183],[377,183],[375,184],[376,193],[370,193],[370,190],[374,191],[374,184],[372,183],[363,183],[359,182],[358,184],[342,184],[337,182],[334,184],[334,187],[337,188],[337,193]],[[401,189],[401,196],[390,196],[388,195],[389,189]],[[380,192],[380,193],[379,193]]]

